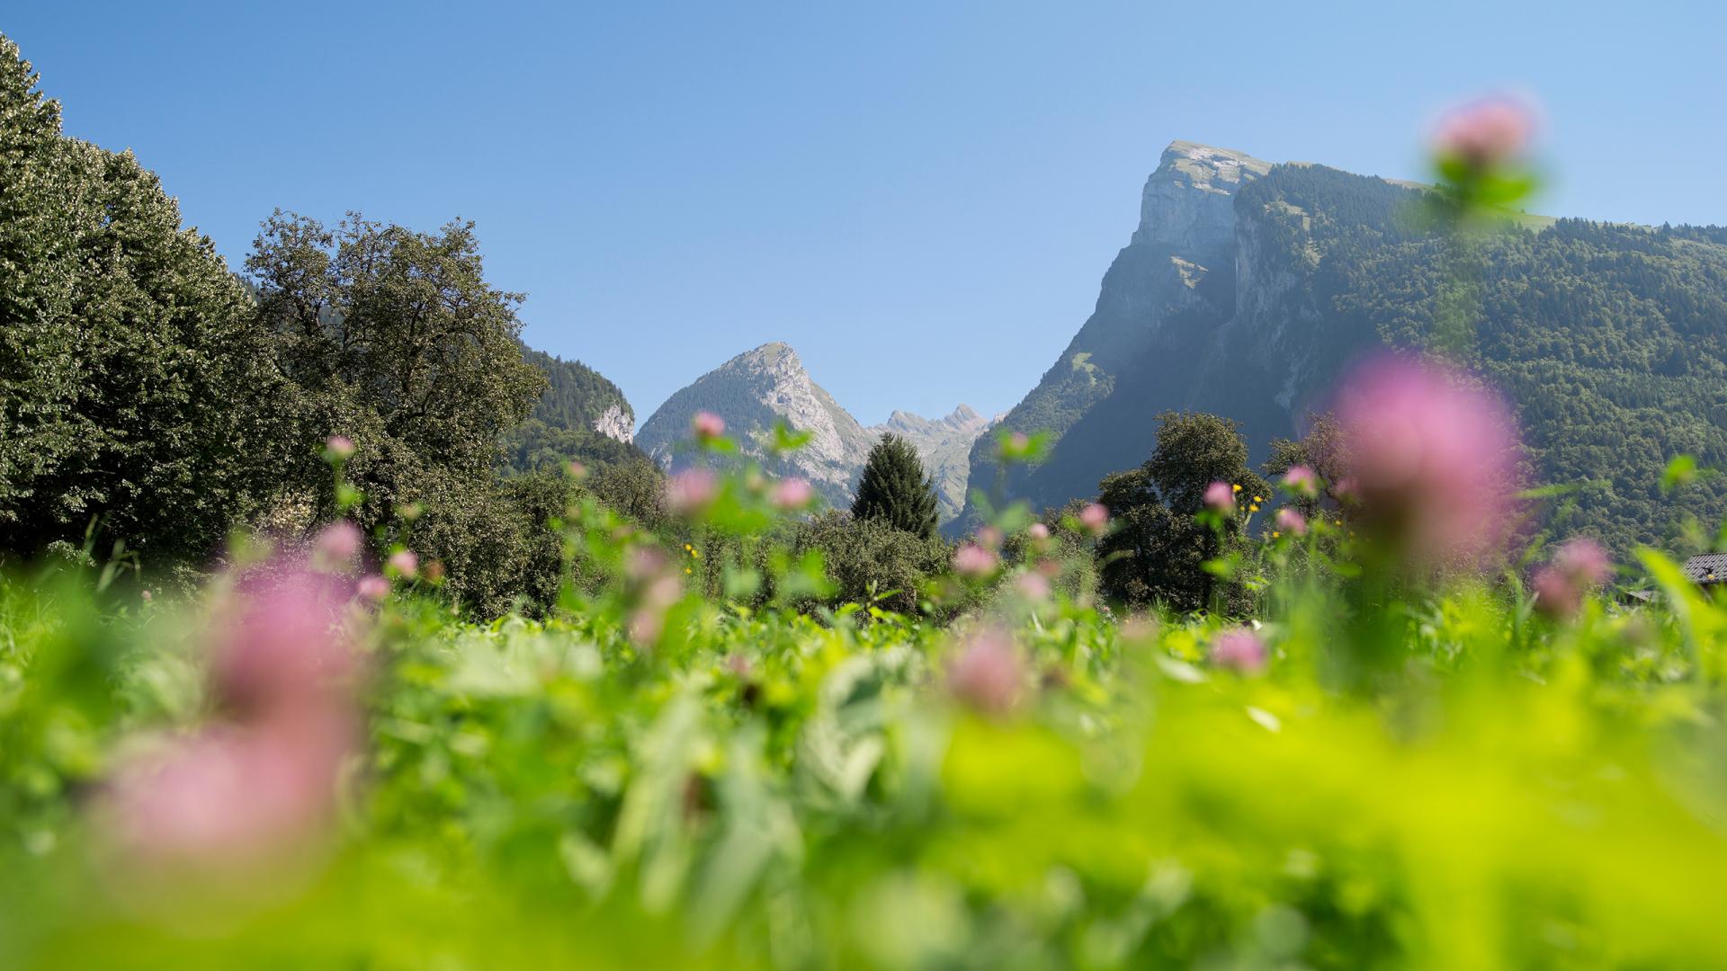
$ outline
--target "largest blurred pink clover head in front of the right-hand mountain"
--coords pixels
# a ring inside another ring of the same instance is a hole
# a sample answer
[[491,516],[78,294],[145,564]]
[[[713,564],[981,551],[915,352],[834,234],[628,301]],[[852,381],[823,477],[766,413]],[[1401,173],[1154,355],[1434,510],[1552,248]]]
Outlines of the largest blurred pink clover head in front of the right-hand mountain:
[[1509,409],[1439,365],[1380,358],[1351,375],[1338,420],[1359,520],[1413,563],[1478,560],[1509,532]]

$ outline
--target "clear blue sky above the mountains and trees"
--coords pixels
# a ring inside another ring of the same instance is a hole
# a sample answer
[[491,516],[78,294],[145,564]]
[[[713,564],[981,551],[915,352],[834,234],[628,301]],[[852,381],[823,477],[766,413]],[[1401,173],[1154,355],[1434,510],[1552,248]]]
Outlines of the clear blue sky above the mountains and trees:
[[530,344],[639,418],[767,340],[865,423],[1012,406],[1162,147],[1421,176],[1447,104],[1539,97],[1537,209],[1727,223],[1727,5],[0,7],[66,128],[238,266],[275,207],[478,223]]

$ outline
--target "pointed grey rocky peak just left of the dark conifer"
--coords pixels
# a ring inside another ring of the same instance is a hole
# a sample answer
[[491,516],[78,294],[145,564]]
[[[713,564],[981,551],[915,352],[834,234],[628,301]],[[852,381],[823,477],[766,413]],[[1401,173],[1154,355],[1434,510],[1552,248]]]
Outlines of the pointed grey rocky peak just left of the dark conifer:
[[[834,506],[851,505],[864,460],[876,435],[810,378],[789,346],[763,344],[701,375],[665,401],[642,423],[636,442],[667,470],[687,463],[689,422],[698,411],[725,418],[725,434],[746,456],[763,461],[777,475],[801,475]],[[810,434],[810,444],[786,460],[772,460],[762,439],[774,423]]]

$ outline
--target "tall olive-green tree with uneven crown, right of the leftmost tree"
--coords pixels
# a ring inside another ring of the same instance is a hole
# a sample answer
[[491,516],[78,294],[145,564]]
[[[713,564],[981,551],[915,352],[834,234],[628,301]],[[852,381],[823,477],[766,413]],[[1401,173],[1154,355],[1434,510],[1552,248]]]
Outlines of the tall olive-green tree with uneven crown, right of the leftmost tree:
[[544,524],[523,524],[520,491],[497,487],[499,439],[547,382],[522,356],[522,297],[485,282],[473,223],[418,233],[351,213],[332,232],[278,211],[245,266],[294,387],[285,491],[319,496],[328,515],[318,446],[347,435],[359,524],[392,534],[406,529],[399,510],[420,506],[414,544],[447,560],[449,589],[473,608],[503,605],[499,577],[525,567],[501,558],[539,549],[523,530]]

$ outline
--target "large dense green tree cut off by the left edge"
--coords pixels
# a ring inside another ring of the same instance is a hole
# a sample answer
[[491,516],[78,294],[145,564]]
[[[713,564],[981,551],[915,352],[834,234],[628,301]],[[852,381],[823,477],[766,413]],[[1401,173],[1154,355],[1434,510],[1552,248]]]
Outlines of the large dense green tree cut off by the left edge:
[[269,335],[159,180],[64,136],[36,81],[0,36],[0,553],[97,525],[204,558],[271,472]]

